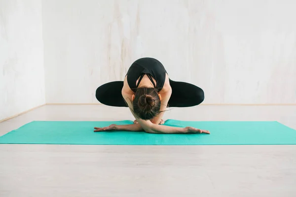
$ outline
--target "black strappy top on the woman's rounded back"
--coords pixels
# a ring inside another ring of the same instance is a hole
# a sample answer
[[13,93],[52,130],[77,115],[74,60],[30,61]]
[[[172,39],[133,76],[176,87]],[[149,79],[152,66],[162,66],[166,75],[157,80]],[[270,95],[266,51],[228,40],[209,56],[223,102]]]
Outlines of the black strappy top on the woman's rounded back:
[[[166,70],[164,66],[156,59],[153,58],[141,58],[135,61],[127,71],[127,83],[130,89],[138,88],[144,75],[147,74],[150,81],[152,82],[154,88],[160,91],[163,88]],[[138,84],[136,84],[138,78],[140,77]],[[152,77],[155,79],[154,83]]]

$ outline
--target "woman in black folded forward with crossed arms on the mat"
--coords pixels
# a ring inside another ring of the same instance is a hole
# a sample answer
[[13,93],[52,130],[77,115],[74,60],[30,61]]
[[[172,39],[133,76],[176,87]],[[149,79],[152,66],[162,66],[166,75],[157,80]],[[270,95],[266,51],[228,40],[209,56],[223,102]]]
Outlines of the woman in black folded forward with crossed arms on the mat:
[[167,106],[190,107],[204,100],[201,88],[172,81],[164,66],[156,59],[141,58],[129,68],[124,81],[100,86],[96,98],[105,105],[129,107],[135,124],[95,127],[95,131],[146,131],[148,133],[210,133],[193,127],[162,125]]

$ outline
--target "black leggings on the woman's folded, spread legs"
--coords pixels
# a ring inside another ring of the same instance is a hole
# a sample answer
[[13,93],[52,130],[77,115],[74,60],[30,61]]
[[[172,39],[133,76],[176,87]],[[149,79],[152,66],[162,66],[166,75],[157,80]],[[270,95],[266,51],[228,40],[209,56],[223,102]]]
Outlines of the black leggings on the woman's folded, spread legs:
[[[168,107],[191,107],[200,104],[205,96],[201,88],[185,82],[172,81],[172,95]],[[115,107],[128,107],[121,95],[123,81],[113,81],[100,86],[96,98],[103,104]]]

